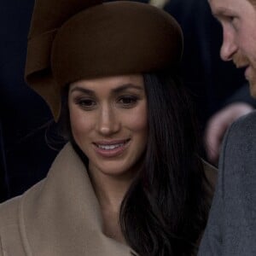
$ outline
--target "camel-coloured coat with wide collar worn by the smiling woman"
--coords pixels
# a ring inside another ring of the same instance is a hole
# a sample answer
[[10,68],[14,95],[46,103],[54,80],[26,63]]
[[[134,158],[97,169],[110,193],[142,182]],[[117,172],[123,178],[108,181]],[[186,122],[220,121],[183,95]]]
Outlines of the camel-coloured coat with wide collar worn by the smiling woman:
[[70,143],[48,176],[0,205],[0,256],[131,256],[102,233],[102,216],[83,162]]

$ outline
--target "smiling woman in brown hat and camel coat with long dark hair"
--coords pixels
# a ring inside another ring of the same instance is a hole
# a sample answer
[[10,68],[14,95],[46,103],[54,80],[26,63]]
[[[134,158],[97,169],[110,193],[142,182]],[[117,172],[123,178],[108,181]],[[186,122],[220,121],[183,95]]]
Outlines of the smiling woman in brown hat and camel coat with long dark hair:
[[71,143],[0,207],[0,255],[195,254],[210,187],[176,78],[182,42],[148,4],[36,2],[26,80]]

